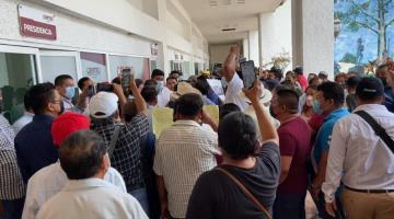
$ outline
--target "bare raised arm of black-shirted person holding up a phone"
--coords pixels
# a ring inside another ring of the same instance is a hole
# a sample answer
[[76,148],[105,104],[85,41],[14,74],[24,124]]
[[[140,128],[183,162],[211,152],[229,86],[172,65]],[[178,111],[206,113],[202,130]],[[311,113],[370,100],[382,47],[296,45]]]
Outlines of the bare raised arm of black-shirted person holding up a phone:
[[252,102],[252,106],[256,113],[258,128],[260,130],[264,142],[271,141],[279,146],[278,132],[276,131],[274,125],[270,123],[270,118],[266,111],[264,111],[263,105],[259,103],[259,90],[260,83],[258,80],[255,80],[252,89],[244,89],[243,91],[246,97],[248,97]]

